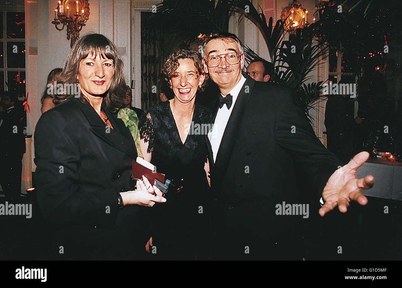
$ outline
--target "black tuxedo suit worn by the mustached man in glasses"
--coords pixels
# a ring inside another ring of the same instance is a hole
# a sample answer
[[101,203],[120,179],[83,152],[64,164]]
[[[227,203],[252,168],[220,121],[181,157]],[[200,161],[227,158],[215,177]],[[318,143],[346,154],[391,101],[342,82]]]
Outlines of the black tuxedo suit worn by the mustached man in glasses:
[[307,204],[296,190],[297,167],[316,193],[309,212],[318,213],[322,190],[340,162],[316,138],[292,93],[247,77],[215,163],[207,139],[214,243],[220,243],[213,258],[302,259],[297,231],[303,216],[277,215],[276,205]]

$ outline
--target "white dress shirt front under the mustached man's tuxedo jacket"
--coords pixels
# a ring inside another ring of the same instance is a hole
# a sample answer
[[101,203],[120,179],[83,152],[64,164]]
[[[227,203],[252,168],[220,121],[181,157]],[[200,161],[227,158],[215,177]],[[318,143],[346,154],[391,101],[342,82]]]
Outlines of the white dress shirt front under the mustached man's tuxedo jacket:
[[[216,154],[218,153],[219,146],[221,145],[222,137],[224,135],[226,125],[228,124],[228,120],[230,118],[230,114],[232,113],[234,104],[236,103],[237,96],[242,89],[244,82],[246,82],[246,78],[242,75],[240,81],[233,87],[232,90],[228,94],[232,95],[232,106],[230,109],[223,105],[222,108],[218,109],[218,113],[216,114],[215,123],[213,124],[213,128],[208,132],[208,139],[211,143],[212,153],[213,153],[213,162],[216,160]],[[226,97],[221,93],[222,97]]]

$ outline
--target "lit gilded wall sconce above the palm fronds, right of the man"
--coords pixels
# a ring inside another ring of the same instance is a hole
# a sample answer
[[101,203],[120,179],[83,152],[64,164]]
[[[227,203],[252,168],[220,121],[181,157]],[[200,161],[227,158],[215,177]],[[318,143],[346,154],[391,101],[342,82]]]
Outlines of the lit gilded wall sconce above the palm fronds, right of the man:
[[301,8],[299,1],[293,0],[292,4],[282,10],[283,28],[290,34],[296,34],[297,28],[304,28],[308,25],[307,13],[306,9]]

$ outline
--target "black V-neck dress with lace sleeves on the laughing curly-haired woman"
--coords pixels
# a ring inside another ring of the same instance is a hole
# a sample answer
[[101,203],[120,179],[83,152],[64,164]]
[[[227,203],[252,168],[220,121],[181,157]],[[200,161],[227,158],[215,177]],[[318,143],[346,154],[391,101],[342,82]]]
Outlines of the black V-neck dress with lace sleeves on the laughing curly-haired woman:
[[[148,108],[140,137],[148,142],[151,163],[172,183],[181,183],[179,193],[168,195],[152,211],[152,239],[156,254],[166,260],[204,259],[207,236],[208,184],[204,164],[207,160],[205,124],[211,111],[195,105],[192,126],[181,142],[169,101]],[[202,125],[204,124],[204,125]],[[181,182],[179,182],[183,179]]]

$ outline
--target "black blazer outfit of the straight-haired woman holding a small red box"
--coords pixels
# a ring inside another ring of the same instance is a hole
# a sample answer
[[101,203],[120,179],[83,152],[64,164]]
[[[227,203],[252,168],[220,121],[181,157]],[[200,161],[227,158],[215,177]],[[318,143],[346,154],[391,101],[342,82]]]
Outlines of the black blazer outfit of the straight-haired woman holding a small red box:
[[45,112],[35,128],[37,202],[57,226],[49,252],[59,259],[134,259],[146,243],[141,207],[117,207],[117,193],[132,190],[137,150],[123,121],[103,109],[114,129],[79,99]]

